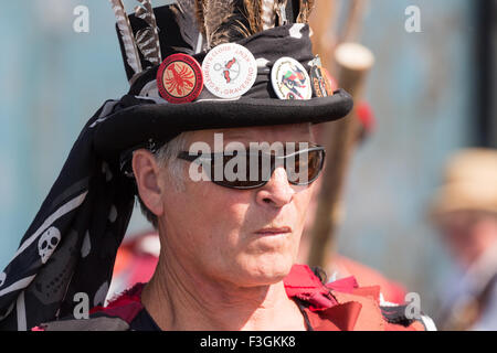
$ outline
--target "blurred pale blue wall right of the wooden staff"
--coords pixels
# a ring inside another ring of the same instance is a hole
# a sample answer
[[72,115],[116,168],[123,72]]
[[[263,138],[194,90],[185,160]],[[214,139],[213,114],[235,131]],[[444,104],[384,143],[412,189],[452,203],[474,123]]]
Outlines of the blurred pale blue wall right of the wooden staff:
[[[421,33],[404,30],[411,4],[421,9]],[[453,268],[427,220],[430,197],[478,121],[475,6],[371,1],[362,36],[377,58],[367,97],[378,126],[353,160],[339,249],[420,292],[430,311]]]

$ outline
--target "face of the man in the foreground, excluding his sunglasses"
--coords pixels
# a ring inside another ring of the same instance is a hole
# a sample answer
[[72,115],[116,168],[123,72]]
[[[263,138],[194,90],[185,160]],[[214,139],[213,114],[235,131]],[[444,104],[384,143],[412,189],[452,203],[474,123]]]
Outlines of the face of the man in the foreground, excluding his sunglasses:
[[[304,124],[194,131],[188,146],[204,141],[214,151],[214,132],[223,133],[224,146],[313,142],[309,125]],[[269,285],[285,277],[297,256],[313,185],[289,184],[279,167],[264,186],[229,189],[192,181],[190,162],[179,162],[187,163],[184,190],[166,192],[165,215],[159,218],[167,254],[173,254],[189,271],[240,287]]]

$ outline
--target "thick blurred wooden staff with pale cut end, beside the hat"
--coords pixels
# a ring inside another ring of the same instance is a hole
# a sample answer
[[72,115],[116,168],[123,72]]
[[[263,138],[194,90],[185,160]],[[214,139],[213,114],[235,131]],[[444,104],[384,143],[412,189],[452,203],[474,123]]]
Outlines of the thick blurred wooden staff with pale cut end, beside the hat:
[[[374,63],[372,53],[357,43],[343,43],[335,51],[338,83],[360,101],[366,77]],[[357,107],[357,105],[356,105]],[[327,125],[325,136],[327,157],[315,223],[311,229],[309,265],[326,267],[330,254],[335,253],[335,232],[339,222],[340,203],[350,157],[357,140],[358,119],[356,108],[346,118]]]

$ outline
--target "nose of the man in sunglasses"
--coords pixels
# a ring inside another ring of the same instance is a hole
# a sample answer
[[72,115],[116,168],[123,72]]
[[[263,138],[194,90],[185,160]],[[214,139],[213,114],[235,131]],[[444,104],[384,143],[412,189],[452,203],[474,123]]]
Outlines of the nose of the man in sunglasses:
[[267,183],[257,190],[257,202],[261,205],[283,207],[289,203],[295,190],[288,183],[286,171],[283,167],[276,168]]

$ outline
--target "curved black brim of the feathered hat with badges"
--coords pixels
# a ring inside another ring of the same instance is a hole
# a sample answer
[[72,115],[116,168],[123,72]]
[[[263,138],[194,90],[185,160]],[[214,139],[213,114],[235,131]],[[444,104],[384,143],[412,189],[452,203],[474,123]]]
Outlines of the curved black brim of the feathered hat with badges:
[[338,89],[309,100],[257,99],[202,100],[190,104],[140,104],[120,109],[95,128],[95,149],[112,160],[148,139],[168,141],[181,132],[332,121],[347,116],[352,97]]

